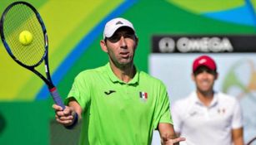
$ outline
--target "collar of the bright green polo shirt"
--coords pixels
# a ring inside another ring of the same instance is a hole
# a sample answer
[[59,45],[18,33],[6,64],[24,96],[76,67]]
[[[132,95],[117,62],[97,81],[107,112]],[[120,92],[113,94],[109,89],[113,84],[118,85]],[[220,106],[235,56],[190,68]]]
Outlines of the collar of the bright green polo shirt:
[[118,79],[118,77],[113,73],[113,70],[110,67],[110,64],[108,62],[107,65],[105,65],[107,73],[108,73],[108,77],[109,79],[113,82],[113,83],[120,83],[120,84],[128,84],[128,85],[134,85],[138,83],[138,75],[139,75],[139,71],[138,69],[135,67],[136,70],[136,74],[134,75],[133,79],[130,80],[128,83],[124,82],[123,80]]

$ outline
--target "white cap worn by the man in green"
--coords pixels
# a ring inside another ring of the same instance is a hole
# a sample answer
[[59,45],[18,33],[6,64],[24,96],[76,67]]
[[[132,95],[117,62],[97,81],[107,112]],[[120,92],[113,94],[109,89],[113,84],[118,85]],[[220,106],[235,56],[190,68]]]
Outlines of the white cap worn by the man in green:
[[103,32],[103,39],[105,39],[106,37],[109,38],[113,36],[113,33],[117,31],[119,27],[130,27],[135,32],[132,22],[129,22],[128,20],[122,17],[118,17],[106,23],[104,32]]

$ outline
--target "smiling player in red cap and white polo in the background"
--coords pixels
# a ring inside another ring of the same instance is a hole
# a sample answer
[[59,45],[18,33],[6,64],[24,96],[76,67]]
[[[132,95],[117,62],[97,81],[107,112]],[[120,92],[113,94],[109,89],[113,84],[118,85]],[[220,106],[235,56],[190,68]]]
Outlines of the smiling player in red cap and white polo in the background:
[[243,123],[238,101],[213,90],[217,65],[209,56],[193,61],[196,90],[173,104],[174,128],[188,145],[243,145]]

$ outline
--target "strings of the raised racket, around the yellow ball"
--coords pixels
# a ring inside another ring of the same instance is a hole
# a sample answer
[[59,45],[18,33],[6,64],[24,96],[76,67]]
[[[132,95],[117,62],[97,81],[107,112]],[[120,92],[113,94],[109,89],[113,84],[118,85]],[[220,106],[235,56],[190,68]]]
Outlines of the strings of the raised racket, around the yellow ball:
[[[24,4],[14,5],[5,16],[3,28],[10,51],[16,60],[28,66],[42,62],[46,53],[44,33],[38,17],[30,7]],[[30,31],[33,35],[33,41],[27,46],[19,41],[22,31]]]

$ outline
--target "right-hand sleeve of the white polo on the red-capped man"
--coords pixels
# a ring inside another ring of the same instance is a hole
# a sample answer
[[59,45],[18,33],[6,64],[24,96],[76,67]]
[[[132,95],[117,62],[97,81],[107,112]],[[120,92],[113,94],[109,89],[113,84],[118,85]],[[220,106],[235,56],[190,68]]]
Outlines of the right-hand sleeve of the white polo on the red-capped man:
[[243,114],[241,106],[238,103],[238,100],[235,100],[233,108],[233,118],[232,118],[232,128],[241,128],[243,127]]

